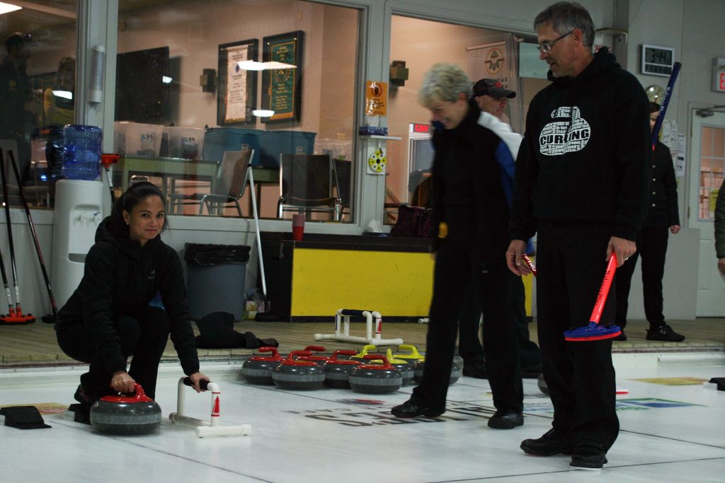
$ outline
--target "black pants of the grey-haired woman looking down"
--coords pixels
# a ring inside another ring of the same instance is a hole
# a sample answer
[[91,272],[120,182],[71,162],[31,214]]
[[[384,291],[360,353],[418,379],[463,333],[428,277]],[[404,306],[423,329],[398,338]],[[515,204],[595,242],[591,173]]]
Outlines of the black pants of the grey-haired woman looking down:
[[472,261],[474,248],[461,240],[445,240],[439,248],[434,269],[426,364],[423,379],[413,390],[413,400],[426,407],[444,408],[458,332],[458,311],[464,290],[475,277],[480,287],[484,324],[484,350],[489,383],[497,409],[523,410],[523,387],[518,347],[507,303],[505,257],[500,263],[480,266]]

